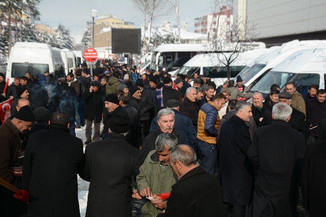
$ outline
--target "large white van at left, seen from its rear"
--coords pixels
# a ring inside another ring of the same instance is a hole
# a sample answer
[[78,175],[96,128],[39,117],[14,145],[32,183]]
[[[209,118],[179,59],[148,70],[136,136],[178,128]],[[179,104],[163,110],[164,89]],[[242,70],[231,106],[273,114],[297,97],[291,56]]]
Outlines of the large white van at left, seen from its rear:
[[14,77],[23,76],[27,71],[31,74],[48,71],[54,72],[56,77],[65,76],[60,51],[45,43],[16,42],[9,54],[7,78],[12,82]]

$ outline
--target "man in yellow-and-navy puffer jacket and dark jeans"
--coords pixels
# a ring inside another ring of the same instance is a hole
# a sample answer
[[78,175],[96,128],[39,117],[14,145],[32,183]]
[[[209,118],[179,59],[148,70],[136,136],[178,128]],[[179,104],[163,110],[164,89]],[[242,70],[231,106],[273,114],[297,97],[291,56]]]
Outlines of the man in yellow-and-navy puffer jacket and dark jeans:
[[201,106],[198,114],[197,146],[201,166],[214,175],[217,160],[218,112],[225,104],[226,96],[217,93],[212,100]]

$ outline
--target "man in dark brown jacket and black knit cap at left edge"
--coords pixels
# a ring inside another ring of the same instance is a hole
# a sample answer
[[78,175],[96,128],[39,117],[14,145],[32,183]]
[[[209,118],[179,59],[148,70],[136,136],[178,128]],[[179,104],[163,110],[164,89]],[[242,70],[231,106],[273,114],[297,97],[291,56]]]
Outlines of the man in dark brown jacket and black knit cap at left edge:
[[[12,120],[0,126],[0,178],[21,189],[22,165],[26,140],[22,133],[30,130],[35,120],[29,106],[16,112]],[[0,214],[16,217],[27,213],[22,201],[13,192],[0,185]]]

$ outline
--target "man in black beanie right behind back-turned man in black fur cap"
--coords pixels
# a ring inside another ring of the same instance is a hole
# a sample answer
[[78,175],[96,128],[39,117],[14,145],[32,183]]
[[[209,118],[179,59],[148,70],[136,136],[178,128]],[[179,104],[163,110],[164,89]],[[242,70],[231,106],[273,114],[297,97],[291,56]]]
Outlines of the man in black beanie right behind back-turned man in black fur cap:
[[[103,140],[106,139],[109,135],[109,123],[113,117],[124,115],[127,117],[128,123],[130,123],[127,111],[123,109],[121,105],[119,105],[119,102],[120,101],[118,99],[118,96],[114,93],[110,93],[104,98],[105,108],[108,110],[109,114],[106,116],[105,119],[103,119]],[[130,143],[129,136],[127,136],[127,142]]]

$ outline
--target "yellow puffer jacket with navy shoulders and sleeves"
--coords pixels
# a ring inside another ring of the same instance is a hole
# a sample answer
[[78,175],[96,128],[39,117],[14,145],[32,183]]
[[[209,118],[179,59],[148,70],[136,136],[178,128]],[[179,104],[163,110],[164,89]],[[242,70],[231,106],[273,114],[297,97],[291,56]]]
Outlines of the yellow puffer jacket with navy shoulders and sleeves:
[[216,145],[219,116],[214,103],[209,101],[204,104],[198,114],[197,139]]

